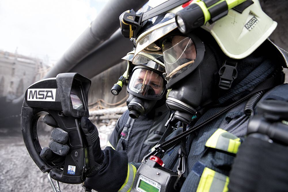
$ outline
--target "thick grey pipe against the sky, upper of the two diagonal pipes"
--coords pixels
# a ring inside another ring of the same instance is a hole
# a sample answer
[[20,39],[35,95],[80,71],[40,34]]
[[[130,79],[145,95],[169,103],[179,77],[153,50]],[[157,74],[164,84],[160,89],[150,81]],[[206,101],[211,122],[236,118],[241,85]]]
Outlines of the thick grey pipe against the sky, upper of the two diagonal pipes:
[[[119,16],[128,9],[138,10],[147,0],[110,0],[97,18],[76,39],[44,78],[56,77],[58,73],[71,70],[95,47],[106,41],[119,28]],[[124,38],[124,37],[122,37]]]

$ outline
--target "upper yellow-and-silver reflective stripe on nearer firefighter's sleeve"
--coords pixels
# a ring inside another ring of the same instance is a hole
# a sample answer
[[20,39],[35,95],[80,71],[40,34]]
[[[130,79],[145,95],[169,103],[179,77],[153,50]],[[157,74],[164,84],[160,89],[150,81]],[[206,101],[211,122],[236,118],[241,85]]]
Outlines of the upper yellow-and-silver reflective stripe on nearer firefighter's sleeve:
[[240,144],[240,138],[223,129],[217,129],[207,140],[205,146],[236,154]]

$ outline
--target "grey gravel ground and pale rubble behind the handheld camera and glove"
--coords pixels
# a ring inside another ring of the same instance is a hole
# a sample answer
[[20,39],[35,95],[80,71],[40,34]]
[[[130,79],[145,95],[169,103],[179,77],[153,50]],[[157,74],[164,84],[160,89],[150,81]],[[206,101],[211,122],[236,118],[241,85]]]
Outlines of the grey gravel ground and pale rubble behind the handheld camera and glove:
[[[105,148],[105,142],[115,127],[115,122],[98,127],[99,132],[104,135],[101,148]],[[43,128],[38,134],[41,146],[48,146],[50,131],[51,128]],[[52,192],[47,175],[41,172],[31,159],[24,145],[20,127],[0,128],[0,191]],[[54,184],[56,186],[55,181]],[[83,191],[82,184],[60,183],[60,188],[63,192]]]

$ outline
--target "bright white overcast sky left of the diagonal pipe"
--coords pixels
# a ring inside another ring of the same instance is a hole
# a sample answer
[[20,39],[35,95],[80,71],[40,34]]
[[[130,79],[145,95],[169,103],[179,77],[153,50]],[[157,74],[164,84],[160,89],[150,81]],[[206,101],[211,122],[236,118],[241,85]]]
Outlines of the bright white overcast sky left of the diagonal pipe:
[[0,50],[56,61],[106,2],[0,0]]

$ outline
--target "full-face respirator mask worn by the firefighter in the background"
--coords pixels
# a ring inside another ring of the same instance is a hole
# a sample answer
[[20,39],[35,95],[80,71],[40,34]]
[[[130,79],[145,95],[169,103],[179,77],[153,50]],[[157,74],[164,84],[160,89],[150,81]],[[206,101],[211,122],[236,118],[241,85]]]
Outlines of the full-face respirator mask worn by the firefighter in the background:
[[137,119],[139,115],[149,113],[156,103],[164,98],[166,89],[163,72],[164,68],[154,61],[134,67],[127,86],[129,97],[126,102],[131,118]]

